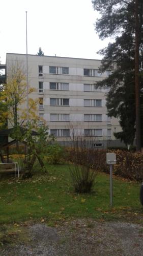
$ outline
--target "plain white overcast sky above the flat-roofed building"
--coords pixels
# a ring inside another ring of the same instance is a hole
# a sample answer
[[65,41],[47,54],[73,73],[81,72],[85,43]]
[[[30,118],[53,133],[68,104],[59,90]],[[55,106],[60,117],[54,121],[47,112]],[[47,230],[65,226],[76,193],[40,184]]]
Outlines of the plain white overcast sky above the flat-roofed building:
[[96,52],[107,46],[94,30],[98,13],[91,0],[5,0],[1,3],[0,57],[6,53],[101,59]]

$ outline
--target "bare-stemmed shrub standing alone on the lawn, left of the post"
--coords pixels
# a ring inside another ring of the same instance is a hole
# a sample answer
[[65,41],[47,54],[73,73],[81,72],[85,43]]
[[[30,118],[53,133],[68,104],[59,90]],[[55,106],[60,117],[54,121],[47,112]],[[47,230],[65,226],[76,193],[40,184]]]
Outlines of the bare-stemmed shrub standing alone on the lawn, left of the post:
[[97,176],[100,160],[95,164],[97,150],[94,148],[93,137],[73,136],[69,150],[70,174],[77,193],[90,193]]

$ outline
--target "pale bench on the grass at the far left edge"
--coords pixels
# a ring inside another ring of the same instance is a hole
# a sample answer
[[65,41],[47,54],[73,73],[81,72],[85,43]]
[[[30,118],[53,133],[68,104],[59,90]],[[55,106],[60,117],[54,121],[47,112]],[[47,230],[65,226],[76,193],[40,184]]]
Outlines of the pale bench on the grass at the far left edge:
[[[1,166],[2,165],[2,166]],[[0,173],[10,173],[10,172],[18,172],[18,178],[19,178],[19,165],[17,162],[14,163],[0,163]]]

